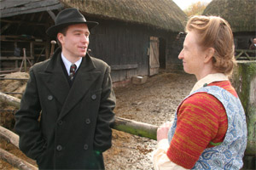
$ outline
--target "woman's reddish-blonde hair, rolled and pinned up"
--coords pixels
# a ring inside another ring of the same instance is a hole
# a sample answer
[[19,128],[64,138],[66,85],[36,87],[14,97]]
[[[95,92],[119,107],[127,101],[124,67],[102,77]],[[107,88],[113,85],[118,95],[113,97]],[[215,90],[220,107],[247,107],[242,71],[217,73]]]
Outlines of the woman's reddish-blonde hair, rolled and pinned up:
[[229,23],[218,16],[192,16],[186,26],[186,31],[196,31],[199,34],[197,42],[202,48],[214,48],[212,58],[213,68],[229,75],[236,65],[234,56],[234,40]]

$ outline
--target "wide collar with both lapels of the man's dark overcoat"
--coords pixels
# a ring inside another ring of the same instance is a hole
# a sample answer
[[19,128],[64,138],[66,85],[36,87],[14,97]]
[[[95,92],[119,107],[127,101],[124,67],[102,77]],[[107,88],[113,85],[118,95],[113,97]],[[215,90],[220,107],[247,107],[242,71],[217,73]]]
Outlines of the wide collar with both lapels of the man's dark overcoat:
[[79,71],[70,88],[67,77],[61,66],[61,48],[56,49],[55,54],[49,59],[45,71],[42,73],[45,86],[61,105],[59,119],[67,115],[73,107],[88,93],[90,86],[101,75],[101,71],[96,71],[96,66],[89,54],[86,54],[79,67]]

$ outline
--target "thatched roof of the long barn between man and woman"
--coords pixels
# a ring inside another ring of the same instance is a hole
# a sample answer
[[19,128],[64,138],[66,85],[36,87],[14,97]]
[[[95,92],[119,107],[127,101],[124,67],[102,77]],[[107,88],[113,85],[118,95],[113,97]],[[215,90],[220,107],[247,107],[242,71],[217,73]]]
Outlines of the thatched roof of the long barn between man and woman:
[[67,7],[79,8],[85,15],[110,20],[123,20],[158,27],[167,31],[183,31],[187,19],[172,0],[61,0]]

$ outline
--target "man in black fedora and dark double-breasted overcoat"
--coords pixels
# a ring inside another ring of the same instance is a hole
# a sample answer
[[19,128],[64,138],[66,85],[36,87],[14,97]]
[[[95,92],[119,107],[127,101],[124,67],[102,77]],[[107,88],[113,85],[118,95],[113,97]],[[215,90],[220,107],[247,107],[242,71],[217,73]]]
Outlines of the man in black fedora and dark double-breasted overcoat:
[[61,48],[30,70],[15,130],[20,150],[40,169],[104,169],[115,96],[110,67],[87,54],[97,24],[77,8],[62,10],[46,31]]

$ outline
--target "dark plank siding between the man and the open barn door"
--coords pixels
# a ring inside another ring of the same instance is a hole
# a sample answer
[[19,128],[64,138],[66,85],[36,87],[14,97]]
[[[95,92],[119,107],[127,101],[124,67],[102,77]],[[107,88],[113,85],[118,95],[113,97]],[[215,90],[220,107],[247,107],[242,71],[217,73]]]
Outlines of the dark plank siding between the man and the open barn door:
[[97,20],[91,31],[90,54],[111,65],[113,82],[148,75],[149,33],[141,26]]

